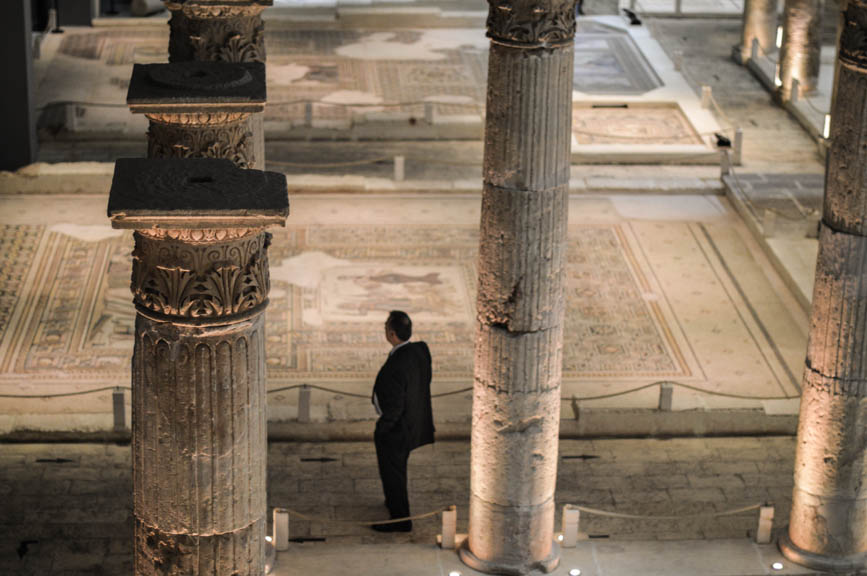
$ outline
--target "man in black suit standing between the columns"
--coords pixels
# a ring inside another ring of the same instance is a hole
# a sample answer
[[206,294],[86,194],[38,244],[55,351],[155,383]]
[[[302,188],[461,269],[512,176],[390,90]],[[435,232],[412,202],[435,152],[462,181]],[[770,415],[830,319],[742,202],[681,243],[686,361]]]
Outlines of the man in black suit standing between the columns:
[[[392,518],[409,516],[406,462],[410,451],[434,441],[430,350],[424,342],[410,342],[410,337],[409,316],[391,312],[385,321],[385,339],[392,349],[373,386],[373,405],[379,414],[373,440],[385,505]],[[409,532],[412,521],[378,524],[373,529]]]

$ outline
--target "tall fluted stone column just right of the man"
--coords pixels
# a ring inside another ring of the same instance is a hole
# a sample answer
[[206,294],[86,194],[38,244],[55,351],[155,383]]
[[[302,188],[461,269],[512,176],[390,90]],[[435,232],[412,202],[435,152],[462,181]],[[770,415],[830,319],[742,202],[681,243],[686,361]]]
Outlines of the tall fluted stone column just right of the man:
[[551,571],[572,124],[572,0],[489,0],[469,538],[462,560]]

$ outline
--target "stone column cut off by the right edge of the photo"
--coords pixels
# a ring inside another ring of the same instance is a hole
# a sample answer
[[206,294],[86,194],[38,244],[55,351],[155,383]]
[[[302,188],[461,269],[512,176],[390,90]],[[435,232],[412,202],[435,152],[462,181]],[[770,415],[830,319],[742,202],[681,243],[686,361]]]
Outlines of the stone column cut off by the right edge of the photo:
[[780,547],[813,569],[867,568],[867,2],[850,0],[804,376]]

